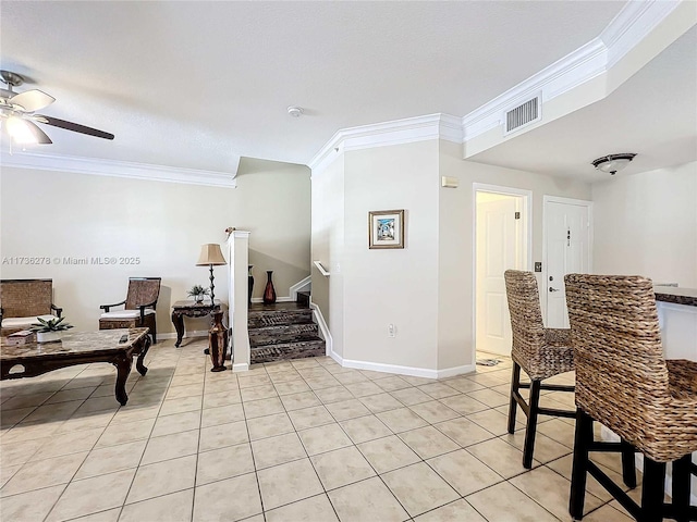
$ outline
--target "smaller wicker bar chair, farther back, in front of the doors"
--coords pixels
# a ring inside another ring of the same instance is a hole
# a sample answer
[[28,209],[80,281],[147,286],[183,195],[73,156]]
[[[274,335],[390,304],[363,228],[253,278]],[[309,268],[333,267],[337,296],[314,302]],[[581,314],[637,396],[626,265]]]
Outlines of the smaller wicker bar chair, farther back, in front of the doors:
[[[540,390],[574,391],[574,386],[542,384],[542,381],[574,369],[574,355],[567,328],[546,328],[542,323],[537,279],[533,272],[506,270],[503,274],[513,331],[513,374],[509,406],[509,433],[515,431],[517,406],[527,415],[523,467],[531,468],[538,415],[574,418],[575,411],[540,408]],[[521,369],[530,377],[521,383]],[[529,388],[529,402],[519,393]]]

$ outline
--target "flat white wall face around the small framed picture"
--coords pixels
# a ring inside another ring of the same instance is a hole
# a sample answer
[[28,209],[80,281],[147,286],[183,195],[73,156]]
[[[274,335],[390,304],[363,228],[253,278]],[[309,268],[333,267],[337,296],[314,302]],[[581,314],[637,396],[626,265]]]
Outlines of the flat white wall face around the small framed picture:
[[[345,152],[344,183],[344,358],[436,369],[438,141]],[[395,209],[404,249],[368,249],[368,212]]]

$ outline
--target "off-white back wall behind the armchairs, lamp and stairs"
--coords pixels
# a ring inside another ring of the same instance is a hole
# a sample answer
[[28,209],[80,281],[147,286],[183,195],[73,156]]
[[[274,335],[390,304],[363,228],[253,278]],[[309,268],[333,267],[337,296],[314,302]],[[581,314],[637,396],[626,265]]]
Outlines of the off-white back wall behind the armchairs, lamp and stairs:
[[[279,296],[309,274],[305,166],[243,159],[236,188],[3,167],[0,192],[0,275],[52,278],[54,301],[77,330],[98,327],[99,306],[124,299],[129,276],[160,276],[158,332],[173,332],[172,302],[192,285],[209,284],[208,268],[195,266],[200,245],[224,244],[228,226],[253,232],[255,294],[261,295],[267,268]],[[52,262],[12,264],[13,257]],[[88,264],[69,265],[68,257]],[[93,257],[118,263],[91,264]],[[122,257],[139,263],[119,264]],[[218,266],[213,274],[216,297],[227,300],[228,271]],[[206,320],[187,322],[187,331],[207,328]]]

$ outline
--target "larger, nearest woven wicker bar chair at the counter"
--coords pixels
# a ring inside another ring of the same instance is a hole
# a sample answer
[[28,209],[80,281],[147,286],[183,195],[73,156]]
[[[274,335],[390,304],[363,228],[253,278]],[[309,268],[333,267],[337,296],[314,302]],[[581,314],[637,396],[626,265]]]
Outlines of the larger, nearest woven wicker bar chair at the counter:
[[[697,362],[664,359],[651,279],[570,274],[564,281],[577,406],[570,513],[582,519],[590,473],[637,520],[697,520],[697,508],[689,507]],[[640,505],[589,460],[589,451],[619,449],[594,440],[594,421],[644,455]],[[663,502],[668,462],[673,463],[671,505]]]

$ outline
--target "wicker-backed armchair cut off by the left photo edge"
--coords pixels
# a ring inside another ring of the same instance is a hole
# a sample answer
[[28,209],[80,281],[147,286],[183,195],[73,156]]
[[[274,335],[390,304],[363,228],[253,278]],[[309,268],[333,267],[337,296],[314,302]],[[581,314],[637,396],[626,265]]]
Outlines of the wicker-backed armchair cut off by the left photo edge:
[[52,279],[0,281],[1,335],[10,335],[32,326],[37,318],[60,318],[62,308],[53,304]]

